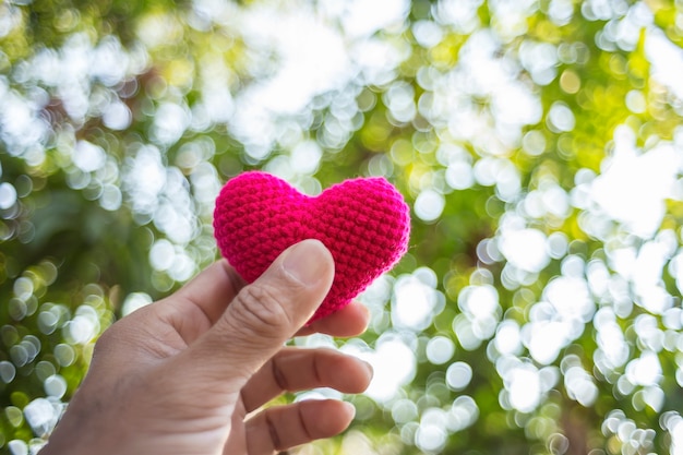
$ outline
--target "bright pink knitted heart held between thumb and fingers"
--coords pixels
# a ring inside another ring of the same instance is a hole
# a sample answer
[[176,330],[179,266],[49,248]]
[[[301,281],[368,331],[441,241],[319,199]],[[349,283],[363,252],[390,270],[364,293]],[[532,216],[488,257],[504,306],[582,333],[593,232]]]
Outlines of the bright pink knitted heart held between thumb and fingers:
[[229,180],[214,212],[218,248],[247,282],[288,247],[317,239],[332,253],[335,278],[311,321],[346,306],[407,251],[409,208],[383,178],[347,180],[311,197],[261,171]]

